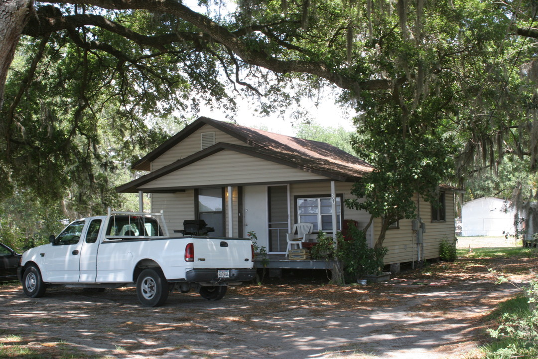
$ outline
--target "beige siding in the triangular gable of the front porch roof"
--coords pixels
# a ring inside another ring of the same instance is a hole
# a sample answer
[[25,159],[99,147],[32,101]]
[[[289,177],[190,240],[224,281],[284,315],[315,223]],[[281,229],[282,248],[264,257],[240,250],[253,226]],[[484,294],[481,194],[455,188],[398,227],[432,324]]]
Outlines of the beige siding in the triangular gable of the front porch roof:
[[321,175],[223,150],[179,170],[155,179],[140,189],[167,187],[227,186],[257,182],[287,182],[326,179]]

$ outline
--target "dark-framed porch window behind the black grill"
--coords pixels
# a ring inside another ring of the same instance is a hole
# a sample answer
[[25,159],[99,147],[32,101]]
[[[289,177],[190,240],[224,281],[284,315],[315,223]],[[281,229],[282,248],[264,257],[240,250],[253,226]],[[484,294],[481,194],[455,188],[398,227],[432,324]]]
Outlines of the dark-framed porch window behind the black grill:
[[196,204],[198,219],[215,229],[211,235],[224,237],[224,188],[200,188]]

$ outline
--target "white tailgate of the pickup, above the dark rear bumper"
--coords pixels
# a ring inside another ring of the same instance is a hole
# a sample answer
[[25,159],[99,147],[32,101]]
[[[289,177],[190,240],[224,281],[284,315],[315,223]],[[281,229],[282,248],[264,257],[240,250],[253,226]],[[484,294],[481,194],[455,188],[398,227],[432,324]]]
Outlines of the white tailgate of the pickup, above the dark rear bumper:
[[252,268],[251,241],[246,238],[195,237],[194,268]]

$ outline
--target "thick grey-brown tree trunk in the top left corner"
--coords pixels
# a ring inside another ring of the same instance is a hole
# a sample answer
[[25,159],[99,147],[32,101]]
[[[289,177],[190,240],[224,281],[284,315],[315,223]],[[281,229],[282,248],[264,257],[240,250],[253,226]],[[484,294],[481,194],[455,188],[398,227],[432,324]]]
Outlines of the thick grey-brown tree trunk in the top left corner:
[[0,108],[4,104],[5,80],[20,34],[30,19],[31,0],[0,0]]

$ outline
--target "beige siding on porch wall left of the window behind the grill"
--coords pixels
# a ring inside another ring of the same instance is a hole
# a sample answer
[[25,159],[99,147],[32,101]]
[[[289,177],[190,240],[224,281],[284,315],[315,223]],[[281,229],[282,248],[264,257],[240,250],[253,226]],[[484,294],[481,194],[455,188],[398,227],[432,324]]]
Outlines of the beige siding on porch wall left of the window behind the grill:
[[166,227],[171,236],[179,236],[174,230],[183,229],[184,220],[194,220],[194,191],[176,193],[152,193],[151,212],[164,211]]

